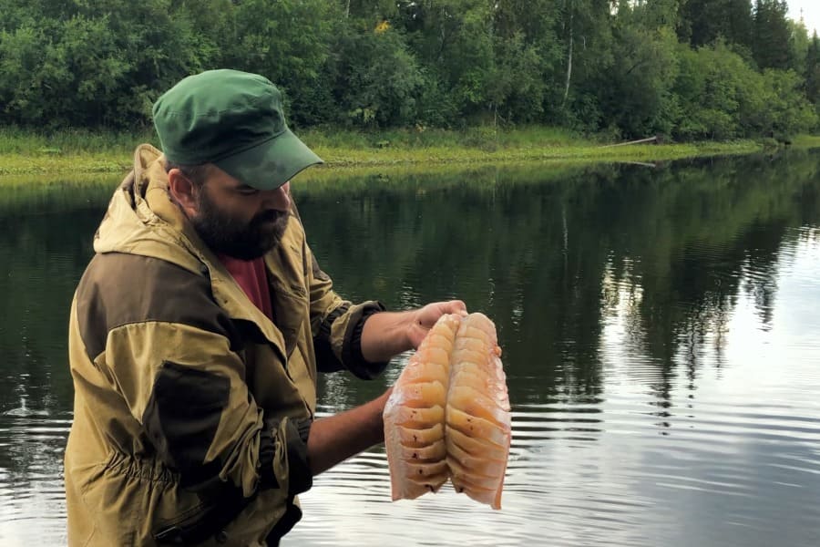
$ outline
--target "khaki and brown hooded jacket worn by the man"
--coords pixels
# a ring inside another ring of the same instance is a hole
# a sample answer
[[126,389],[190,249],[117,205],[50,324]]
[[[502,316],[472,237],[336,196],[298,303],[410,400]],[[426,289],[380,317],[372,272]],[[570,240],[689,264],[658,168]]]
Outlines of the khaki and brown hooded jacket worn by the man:
[[384,309],[333,292],[295,208],[265,257],[275,321],[169,200],[140,146],[94,240],[69,324],[70,545],[264,545],[299,520],[317,371],[371,378],[361,325]]

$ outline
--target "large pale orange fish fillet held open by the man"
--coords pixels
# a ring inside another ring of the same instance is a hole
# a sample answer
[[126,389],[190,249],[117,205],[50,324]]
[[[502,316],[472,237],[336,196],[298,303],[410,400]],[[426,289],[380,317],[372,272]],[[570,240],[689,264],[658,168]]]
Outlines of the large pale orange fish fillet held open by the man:
[[394,501],[451,480],[457,492],[501,508],[512,433],[500,353],[486,315],[444,315],[430,329],[384,407]]

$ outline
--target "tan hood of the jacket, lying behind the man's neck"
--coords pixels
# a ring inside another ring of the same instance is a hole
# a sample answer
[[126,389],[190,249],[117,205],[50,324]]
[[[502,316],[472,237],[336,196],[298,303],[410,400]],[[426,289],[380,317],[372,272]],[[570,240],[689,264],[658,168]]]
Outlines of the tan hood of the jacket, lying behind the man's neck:
[[162,152],[149,144],[134,151],[134,169],[119,185],[94,236],[97,253],[159,258],[192,272],[208,261],[190,222],[170,200]]

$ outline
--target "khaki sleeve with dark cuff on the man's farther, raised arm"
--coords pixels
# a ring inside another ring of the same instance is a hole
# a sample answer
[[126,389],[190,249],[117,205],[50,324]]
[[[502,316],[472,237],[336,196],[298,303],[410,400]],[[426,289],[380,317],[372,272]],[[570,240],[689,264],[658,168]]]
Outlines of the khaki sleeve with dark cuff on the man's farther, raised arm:
[[371,363],[362,355],[362,330],[370,315],[383,312],[384,304],[353,304],[333,291],[333,281],[319,267],[310,247],[304,245],[307,284],[311,299],[311,329],[316,364],[322,372],[347,369],[356,377],[373,379],[387,366]]

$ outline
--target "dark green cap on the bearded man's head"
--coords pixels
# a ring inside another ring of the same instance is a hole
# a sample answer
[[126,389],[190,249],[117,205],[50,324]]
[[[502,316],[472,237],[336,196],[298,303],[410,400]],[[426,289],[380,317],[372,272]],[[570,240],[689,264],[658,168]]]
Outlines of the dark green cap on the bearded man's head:
[[209,70],[182,79],[152,109],[162,151],[179,165],[213,163],[259,190],[323,163],[288,129],[282,94],[266,77]]

